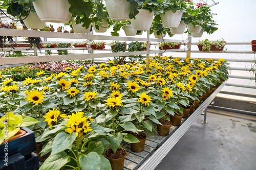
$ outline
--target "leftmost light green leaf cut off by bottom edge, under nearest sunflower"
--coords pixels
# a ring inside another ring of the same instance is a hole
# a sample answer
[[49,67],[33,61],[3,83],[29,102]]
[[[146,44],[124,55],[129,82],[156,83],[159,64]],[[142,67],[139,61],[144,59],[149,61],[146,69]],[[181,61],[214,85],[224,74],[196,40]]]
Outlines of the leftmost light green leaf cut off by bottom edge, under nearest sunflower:
[[40,166],[39,170],[53,170],[60,169],[66,163],[70,161],[70,158],[65,152],[60,152],[55,155],[50,155],[45,162]]

